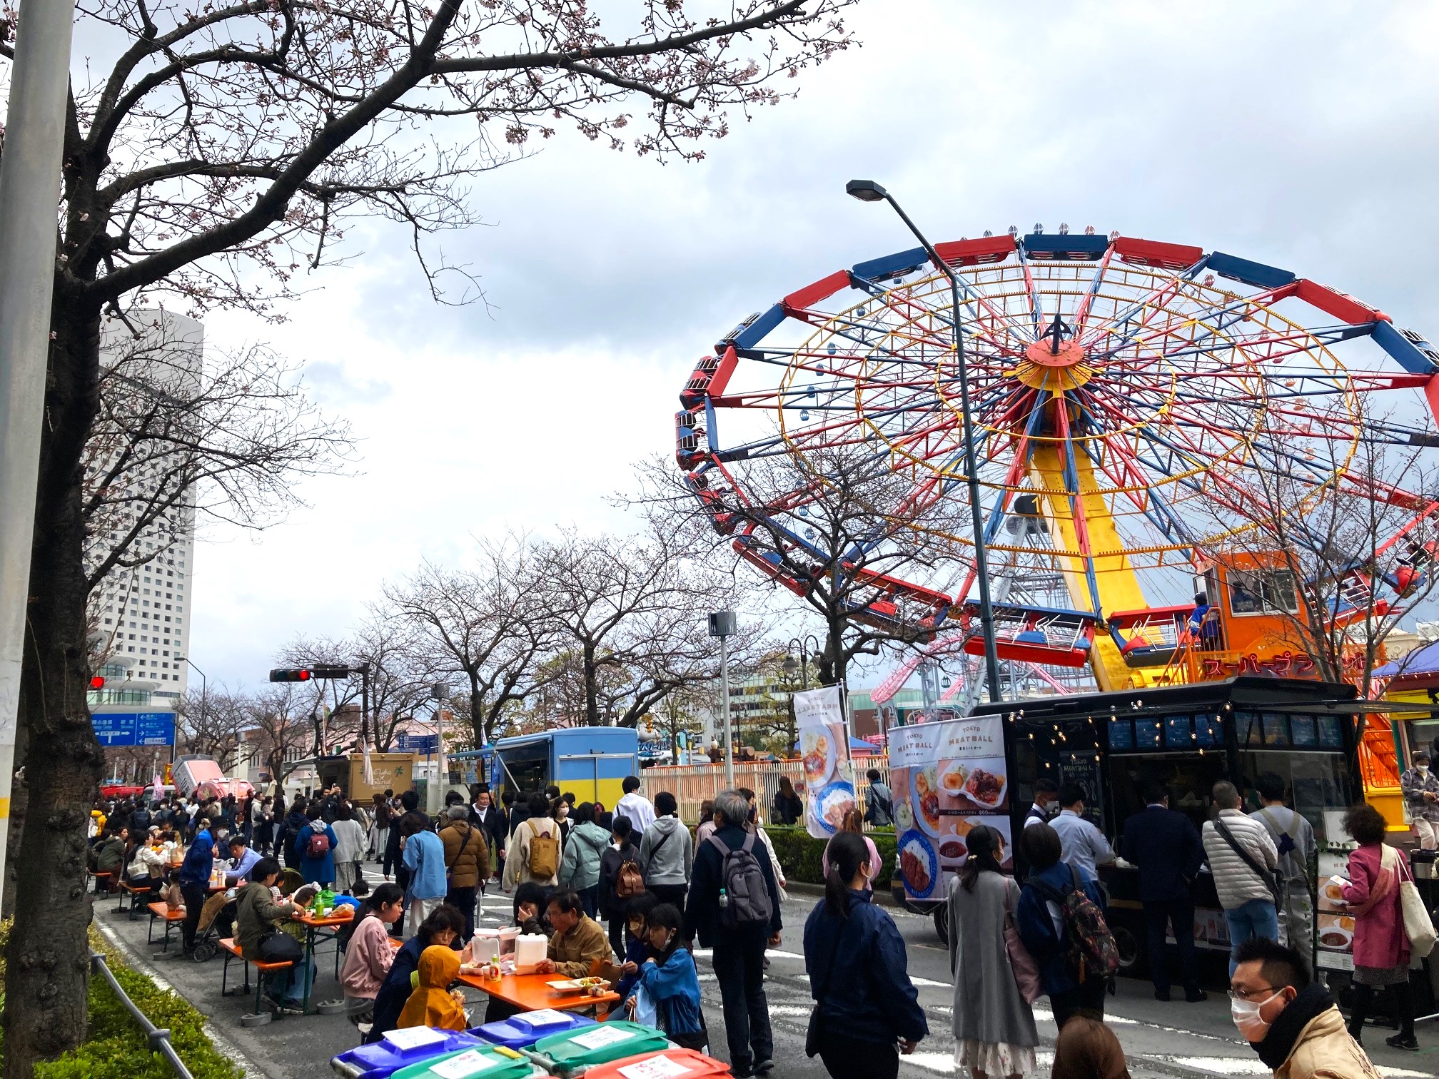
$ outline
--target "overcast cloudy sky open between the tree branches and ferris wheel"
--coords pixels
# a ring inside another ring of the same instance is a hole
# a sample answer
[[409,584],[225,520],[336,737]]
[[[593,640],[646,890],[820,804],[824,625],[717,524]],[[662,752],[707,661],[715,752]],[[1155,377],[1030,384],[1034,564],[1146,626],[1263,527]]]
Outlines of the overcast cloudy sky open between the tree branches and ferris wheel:
[[567,135],[482,177],[485,224],[445,250],[488,311],[435,306],[406,237],[374,226],[288,325],[209,321],[210,347],[305,360],[363,439],[360,475],[305,483],[285,524],[201,534],[210,679],[263,680],[296,632],[344,633],[383,581],[475,535],[626,528],[604,498],[672,450],[675,394],[720,332],[911,246],[845,197],[855,176],[937,240],[1068,222],[1219,247],[1439,338],[1439,7],[868,0],[852,22],[863,47],[699,164]]

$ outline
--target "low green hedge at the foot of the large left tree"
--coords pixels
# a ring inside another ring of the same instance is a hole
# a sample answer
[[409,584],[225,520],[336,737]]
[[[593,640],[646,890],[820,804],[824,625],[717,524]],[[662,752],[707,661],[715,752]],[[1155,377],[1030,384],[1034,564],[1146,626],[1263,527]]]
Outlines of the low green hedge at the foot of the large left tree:
[[[0,950],[9,935],[0,927]],[[222,1056],[204,1033],[204,1016],[181,997],[163,990],[144,974],[124,965],[124,958],[91,928],[91,948],[105,952],[115,980],[157,1027],[170,1029],[170,1043],[196,1079],[240,1079],[245,1072]],[[35,1066],[36,1079],[174,1079],[170,1065],[150,1052],[145,1033],[109,988],[104,974],[89,980],[89,1029],[78,1049],[58,1060]]]

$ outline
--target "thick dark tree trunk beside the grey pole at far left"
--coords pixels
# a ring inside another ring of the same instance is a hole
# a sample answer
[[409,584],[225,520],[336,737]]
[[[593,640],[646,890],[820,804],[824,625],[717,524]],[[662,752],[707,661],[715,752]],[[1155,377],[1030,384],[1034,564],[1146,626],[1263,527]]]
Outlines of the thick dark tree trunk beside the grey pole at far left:
[[56,296],[40,440],[35,552],[26,611],[20,724],[27,747],[29,806],[16,860],[14,927],[6,948],[4,1078],[85,1037],[91,898],[85,892],[85,829],[105,754],[85,698],[81,478],[99,400],[99,312]]

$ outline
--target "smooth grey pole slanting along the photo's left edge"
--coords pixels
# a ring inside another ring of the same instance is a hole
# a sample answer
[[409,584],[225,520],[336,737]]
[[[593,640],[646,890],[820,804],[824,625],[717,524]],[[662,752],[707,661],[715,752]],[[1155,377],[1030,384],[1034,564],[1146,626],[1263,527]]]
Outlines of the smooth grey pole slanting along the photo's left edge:
[[0,870],[10,837],[73,22],[73,3],[20,6],[0,167]]

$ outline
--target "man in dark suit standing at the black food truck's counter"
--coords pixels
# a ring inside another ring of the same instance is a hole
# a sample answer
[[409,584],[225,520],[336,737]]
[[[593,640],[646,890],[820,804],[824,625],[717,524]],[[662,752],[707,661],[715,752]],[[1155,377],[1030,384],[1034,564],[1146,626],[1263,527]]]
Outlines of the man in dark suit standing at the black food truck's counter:
[[1140,870],[1140,902],[1150,941],[1150,975],[1156,1000],[1170,998],[1166,924],[1174,928],[1184,1000],[1200,1001],[1194,962],[1194,896],[1190,885],[1204,860],[1199,832],[1183,813],[1168,807],[1168,793],[1158,784],[1144,791],[1148,803],[1124,823],[1122,855]]

